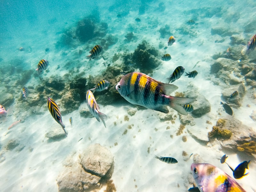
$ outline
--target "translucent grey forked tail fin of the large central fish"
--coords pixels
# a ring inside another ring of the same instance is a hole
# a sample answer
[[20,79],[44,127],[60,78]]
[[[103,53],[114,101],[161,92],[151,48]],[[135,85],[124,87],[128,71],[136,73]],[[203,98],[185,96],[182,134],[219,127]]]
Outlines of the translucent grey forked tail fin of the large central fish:
[[183,106],[193,101],[196,101],[196,99],[170,96],[169,106],[182,115],[188,115],[187,111],[183,108]]

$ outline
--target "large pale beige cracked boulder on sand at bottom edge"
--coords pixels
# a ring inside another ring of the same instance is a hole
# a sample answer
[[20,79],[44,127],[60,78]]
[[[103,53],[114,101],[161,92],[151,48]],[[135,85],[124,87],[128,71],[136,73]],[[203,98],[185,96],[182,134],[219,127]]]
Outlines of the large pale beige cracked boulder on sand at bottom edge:
[[85,192],[100,189],[114,171],[114,156],[100,144],[94,144],[79,155],[78,162],[65,164],[57,184],[60,192]]

